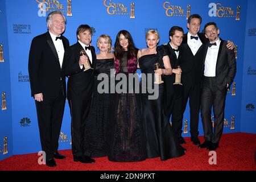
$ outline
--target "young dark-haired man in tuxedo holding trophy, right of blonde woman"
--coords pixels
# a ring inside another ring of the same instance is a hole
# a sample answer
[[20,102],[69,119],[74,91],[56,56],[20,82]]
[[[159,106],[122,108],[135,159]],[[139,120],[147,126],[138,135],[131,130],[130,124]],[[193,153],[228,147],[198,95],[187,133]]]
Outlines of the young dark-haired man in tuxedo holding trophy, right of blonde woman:
[[[177,139],[180,144],[184,144],[185,140],[181,136],[182,134],[182,115],[183,115],[183,85],[175,84],[175,75],[181,75],[181,69],[179,61],[181,58],[180,44],[183,40],[183,28],[174,26],[169,31],[170,42],[167,44],[169,51],[169,57],[172,66],[172,74],[170,76],[164,76],[164,85],[166,86],[166,112],[167,117],[171,118],[172,129],[174,129]],[[182,81],[182,80],[181,80]]]

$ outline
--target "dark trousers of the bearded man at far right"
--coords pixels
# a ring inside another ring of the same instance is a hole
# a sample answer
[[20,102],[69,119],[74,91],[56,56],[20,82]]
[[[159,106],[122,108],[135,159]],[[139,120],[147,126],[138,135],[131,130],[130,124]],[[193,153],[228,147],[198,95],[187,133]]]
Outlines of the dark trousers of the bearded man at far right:
[[[201,94],[201,118],[204,127],[204,138],[212,143],[220,141],[224,125],[226,89],[218,90],[215,77],[204,77]],[[214,132],[211,120],[214,113]]]

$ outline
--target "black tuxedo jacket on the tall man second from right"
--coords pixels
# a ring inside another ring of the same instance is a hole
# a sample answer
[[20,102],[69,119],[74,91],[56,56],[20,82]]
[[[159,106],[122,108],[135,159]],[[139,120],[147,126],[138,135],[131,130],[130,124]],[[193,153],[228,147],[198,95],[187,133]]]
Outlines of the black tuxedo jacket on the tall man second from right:
[[203,44],[197,50],[195,56],[188,46],[188,33],[184,35],[183,42],[180,45],[183,56],[179,62],[182,69],[181,80],[184,85],[200,85],[201,83],[205,43],[209,42],[209,40],[205,38],[204,34],[198,33],[197,35]]

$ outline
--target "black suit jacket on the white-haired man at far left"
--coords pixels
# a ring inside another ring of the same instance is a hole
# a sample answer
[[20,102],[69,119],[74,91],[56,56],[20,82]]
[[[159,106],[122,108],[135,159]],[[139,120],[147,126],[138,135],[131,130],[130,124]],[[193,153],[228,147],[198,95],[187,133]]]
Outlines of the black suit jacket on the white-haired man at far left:
[[[62,36],[64,49],[69,47],[68,39]],[[53,99],[59,96],[62,90],[64,97],[65,76],[60,67],[59,57],[49,32],[36,36],[31,43],[28,59],[31,96],[43,93],[44,99]]]

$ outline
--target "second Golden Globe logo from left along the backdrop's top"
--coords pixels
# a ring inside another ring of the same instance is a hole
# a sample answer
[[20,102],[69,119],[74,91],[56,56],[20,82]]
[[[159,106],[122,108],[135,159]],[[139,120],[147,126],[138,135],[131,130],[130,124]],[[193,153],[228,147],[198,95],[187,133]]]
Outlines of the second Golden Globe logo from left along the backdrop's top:
[[104,0],[104,5],[107,7],[107,13],[110,15],[129,15],[128,8],[121,3]]

